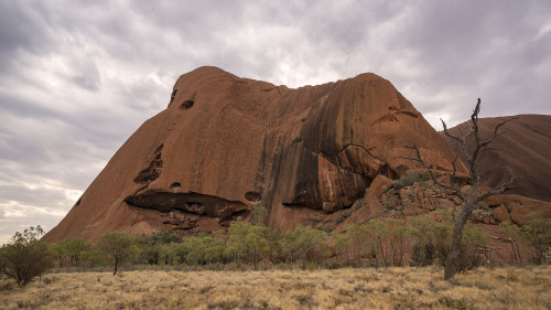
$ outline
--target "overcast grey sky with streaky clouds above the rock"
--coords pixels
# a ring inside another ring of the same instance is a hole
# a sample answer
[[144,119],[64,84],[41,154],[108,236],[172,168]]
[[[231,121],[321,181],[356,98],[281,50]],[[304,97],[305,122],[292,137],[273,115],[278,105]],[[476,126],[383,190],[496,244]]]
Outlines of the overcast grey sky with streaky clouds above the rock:
[[374,72],[439,130],[551,114],[551,1],[0,0],[0,244],[55,226],[176,78]]

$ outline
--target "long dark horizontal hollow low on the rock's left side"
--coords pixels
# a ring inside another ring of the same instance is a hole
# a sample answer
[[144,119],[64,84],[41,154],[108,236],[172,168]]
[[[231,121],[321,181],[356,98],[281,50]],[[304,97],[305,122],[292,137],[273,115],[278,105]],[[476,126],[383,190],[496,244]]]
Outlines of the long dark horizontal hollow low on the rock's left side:
[[249,214],[249,207],[239,201],[228,201],[217,196],[197,193],[145,192],[128,196],[125,202],[134,207],[154,209],[161,212],[173,210],[202,216],[218,217],[222,221],[235,221],[236,216]]

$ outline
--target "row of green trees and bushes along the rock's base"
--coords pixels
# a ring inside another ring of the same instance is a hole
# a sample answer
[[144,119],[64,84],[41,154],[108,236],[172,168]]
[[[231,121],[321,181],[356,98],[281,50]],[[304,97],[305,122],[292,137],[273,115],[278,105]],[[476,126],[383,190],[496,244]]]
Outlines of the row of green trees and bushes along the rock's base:
[[[530,216],[529,225],[505,224],[514,263],[545,264],[551,255],[551,220]],[[402,220],[371,220],[352,224],[344,233],[329,233],[310,226],[296,226],[284,235],[261,224],[233,222],[227,231],[199,233],[184,238],[160,231],[151,236],[107,232],[97,244],[71,238],[54,244],[40,240],[40,226],[17,233],[0,248],[0,274],[15,279],[20,287],[51,267],[86,270],[121,265],[171,265],[208,268],[209,266],[302,267],[387,267],[429,266],[446,261],[453,229],[452,214],[436,211],[433,216]],[[529,255],[520,248],[529,248]],[[493,261],[488,235],[467,223],[462,242],[460,271]],[[504,257],[503,257],[504,258]]]

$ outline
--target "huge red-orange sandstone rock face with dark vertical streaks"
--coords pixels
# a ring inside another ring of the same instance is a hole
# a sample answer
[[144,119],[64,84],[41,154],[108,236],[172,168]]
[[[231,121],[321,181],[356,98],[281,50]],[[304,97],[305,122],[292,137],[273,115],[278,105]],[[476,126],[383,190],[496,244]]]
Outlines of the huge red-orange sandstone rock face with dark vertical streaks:
[[128,139],[44,239],[208,232],[249,221],[255,204],[282,232],[323,225],[376,177],[415,168],[402,141],[434,169],[452,168],[452,149],[375,74],[290,89],[201,67],[177,79],[168,108]]

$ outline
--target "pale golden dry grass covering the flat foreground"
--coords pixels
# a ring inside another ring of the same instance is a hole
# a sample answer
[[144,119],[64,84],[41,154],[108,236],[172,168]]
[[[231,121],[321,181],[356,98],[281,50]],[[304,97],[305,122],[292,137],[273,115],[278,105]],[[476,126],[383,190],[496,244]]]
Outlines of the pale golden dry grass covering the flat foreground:
[[51,274],[0,309],[551,309],[551,267]]

